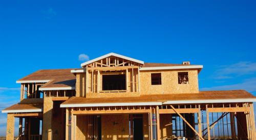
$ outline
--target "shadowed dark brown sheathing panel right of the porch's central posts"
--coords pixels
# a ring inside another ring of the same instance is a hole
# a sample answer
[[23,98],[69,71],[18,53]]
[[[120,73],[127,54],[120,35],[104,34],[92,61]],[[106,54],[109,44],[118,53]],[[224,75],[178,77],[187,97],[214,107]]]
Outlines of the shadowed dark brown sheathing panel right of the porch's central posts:
[[172,114],[160,114],[160,137],[171,138],[173,132]]

